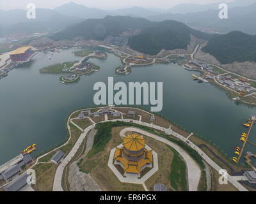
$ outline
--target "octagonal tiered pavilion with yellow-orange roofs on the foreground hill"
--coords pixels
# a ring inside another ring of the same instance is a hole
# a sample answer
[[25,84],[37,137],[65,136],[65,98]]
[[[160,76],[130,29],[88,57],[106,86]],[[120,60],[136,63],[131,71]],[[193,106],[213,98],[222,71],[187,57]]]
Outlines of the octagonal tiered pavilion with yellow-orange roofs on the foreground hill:
[[145,168],[152,168],[152,149],[145,144],[143,136],[127,135],[124,142],[116,147],[114,164],[122,166],[124,175],[132,173],[140,178],[141,171]]

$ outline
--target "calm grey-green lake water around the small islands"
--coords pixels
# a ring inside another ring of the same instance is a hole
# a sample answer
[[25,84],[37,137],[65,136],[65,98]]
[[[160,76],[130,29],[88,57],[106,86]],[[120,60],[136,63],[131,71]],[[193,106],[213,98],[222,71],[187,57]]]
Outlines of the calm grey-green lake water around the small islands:
[[[17,156],[32,143],[37,152],[60,143],[66,136],[65,120],[74,108],[93,105],[93,85],[108,82],[121,62],[113,54],[108,59],[90,59],[101,67],[76,84],[61,84],[61,75],[40,74],[39,69],[56,62],[79,60],[77,49],[37,54],[31,64],[15,68],[0,80],[0,164]],[[191,74],[174,64],[132,68],[130,75],[114,77],[114,82],[163,82],[162,114],[180,126],[204,136],[232,156],[239,144],[241,122],[255,114],[255,108],[236,105],[225,92],[209,83],[198,84]],[[256,143],[255,129],[250,141]],[[255,152],[249,143],[246,150]],[[35,153],[33,153],[35,154]]]

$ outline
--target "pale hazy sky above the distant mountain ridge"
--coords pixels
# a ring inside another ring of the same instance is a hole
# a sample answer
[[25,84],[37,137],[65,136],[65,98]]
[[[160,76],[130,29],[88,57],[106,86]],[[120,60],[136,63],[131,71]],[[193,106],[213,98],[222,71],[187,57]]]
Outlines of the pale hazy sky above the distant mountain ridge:
[[131,6],[141,6],[145,8],[171,8],[181,3],[221,3],[234,0],[0,0],[0,10],[10,10],[15,8],[26,9],[26,4],[34,3],[38,8],[55,8],[61,4],[74,1],[78,4],[92,8],[102,8],[113,10],[116,8],[127,8]]

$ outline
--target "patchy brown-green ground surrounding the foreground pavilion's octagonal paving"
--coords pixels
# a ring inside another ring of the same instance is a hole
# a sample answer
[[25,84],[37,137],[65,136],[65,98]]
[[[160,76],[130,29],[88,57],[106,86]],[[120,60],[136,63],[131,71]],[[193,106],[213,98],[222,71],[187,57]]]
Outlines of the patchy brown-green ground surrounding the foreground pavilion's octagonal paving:
[[[104,191],[143,191],[141,185],[124,184],[119,182],[114,173],[108,167],[109,152],[111,149],[123,142],[119,133],[125,127],[115,127],[111,129],[111,138],[106,143],[104,149],[99,151],[99,147],[94,145],[86,157],[79,159],[77,165],[80,171],[90,173],[93,179]],[[104,136],[105,138],[106,136]],[[157,152],[159,170],[145,183],[148,189],[153,190],[154,184],[163,183],[170,189],[186,191],[188,189],[186,178],[186,164],[176,152],[168,145],[158,142],[145,136],[146,143]],[[175,159],[173,160],[173,156]],[[166,159],[168,158],[168,159]],[[145,169],[147,170],[147,169]],[[142,172],[143,175],[143,172]],[[109,182],[111,180],[111,182]]]

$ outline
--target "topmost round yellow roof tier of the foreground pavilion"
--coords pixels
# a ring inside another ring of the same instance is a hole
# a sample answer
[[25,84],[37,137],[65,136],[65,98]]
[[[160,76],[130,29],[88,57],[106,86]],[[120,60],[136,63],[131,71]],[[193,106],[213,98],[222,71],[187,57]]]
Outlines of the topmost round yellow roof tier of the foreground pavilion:
[[138,151],[145,147],[145,140],[140,135],[127,135],[124,138],[124,147],[127,150]]

